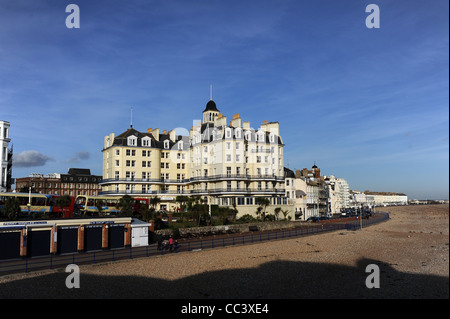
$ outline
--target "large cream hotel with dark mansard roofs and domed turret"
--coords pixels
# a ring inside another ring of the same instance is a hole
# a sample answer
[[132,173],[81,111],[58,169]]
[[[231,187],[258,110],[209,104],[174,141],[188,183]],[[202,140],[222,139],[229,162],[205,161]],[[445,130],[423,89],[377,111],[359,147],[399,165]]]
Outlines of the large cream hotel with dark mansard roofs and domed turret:
[[189,136],[132,126],[105,136],[101,194],[158,196],[161,210],[178,208],[177,195],[198,195],[207,204],[235,206],[238,217],[255,215],[255,199],[263,196],[270,200],[266,213],[281,207],[294,219],[283,148],[278,122],[262,121],[254,129],[239,114],[228,121],[211,99]]

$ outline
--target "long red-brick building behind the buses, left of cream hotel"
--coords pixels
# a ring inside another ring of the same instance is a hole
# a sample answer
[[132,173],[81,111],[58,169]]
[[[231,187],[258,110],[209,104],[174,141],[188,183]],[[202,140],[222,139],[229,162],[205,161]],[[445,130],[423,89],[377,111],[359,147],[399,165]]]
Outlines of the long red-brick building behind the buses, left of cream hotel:
[[16,191],[55,195],[97,196],[101,192],[99,182],[102,176],[92,175],[90,169],[69,168],[67,174],[30,174],[29,177],[17,178]]

